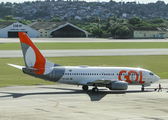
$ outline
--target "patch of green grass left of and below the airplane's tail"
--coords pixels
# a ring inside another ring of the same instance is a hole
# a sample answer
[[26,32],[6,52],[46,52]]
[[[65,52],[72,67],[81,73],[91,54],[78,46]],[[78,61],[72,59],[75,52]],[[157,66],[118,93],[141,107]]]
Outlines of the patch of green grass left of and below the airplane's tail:
[[6,63],[24,66],[23,58],[0,58],[0,86],[55,84],[23,74],[20,69],[8,66]]

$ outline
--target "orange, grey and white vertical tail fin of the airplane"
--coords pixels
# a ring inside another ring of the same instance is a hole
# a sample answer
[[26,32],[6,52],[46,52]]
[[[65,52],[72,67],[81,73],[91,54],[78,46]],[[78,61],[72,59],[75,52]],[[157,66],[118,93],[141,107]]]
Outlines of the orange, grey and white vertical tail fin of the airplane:
[[26,33],[19,32],[18,34],[26,67],[38,69],[34,72],[39,75],[48,74],[51,71],[50,68],[56,64],[45,59]]

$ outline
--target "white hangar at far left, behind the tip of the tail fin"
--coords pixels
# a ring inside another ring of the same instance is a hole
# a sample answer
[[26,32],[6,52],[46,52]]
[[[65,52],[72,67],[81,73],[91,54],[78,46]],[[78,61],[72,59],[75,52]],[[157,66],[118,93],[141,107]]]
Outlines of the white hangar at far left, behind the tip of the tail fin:
[[39,32],[19,22],[0,21],[0,38],[18,37],[18,32],[26,32],[31,38],[37,38]]

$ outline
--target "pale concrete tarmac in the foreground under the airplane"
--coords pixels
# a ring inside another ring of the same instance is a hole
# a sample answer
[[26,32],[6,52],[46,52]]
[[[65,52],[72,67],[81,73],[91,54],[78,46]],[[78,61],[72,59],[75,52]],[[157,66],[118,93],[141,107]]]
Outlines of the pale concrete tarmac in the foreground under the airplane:
[[[162,92],[154,91],[161,83]],[[12,86],[0,88],[1,120],[167,120],[168,80],[126,91],[99,88],[84,92],[81,86]],[[90,87],[91,89],[91,87]]]

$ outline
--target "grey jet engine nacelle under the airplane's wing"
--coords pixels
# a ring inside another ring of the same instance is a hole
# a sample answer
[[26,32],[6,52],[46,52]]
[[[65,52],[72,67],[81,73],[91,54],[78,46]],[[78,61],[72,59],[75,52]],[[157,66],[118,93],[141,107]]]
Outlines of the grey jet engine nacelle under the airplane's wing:
[[126,90],[128,88],[128,83],[124,81],[114,81],[107,87],[110,90]]

